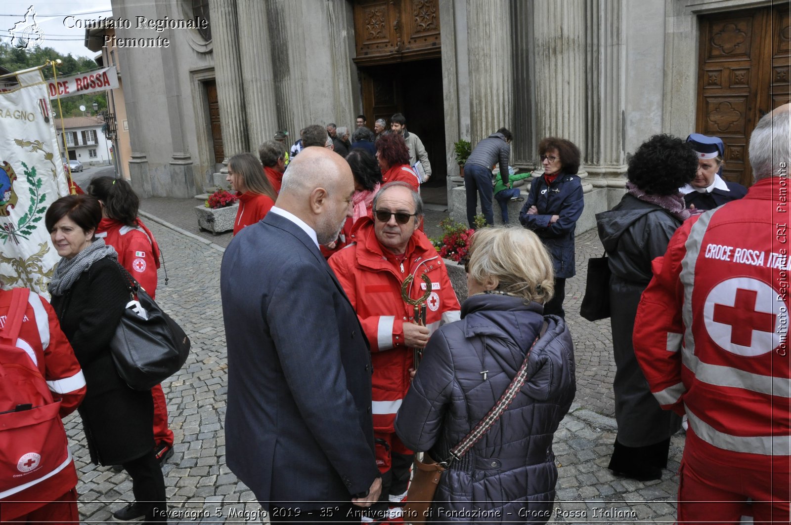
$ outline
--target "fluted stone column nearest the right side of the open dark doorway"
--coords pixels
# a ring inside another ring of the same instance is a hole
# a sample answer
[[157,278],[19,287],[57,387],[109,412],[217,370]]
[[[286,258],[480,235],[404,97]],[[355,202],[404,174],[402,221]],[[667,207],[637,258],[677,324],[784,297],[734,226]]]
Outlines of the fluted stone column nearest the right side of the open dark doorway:
[[509,16],[508,0],[467,2],[473,146],[500,127],[512,127],[514,78]]

